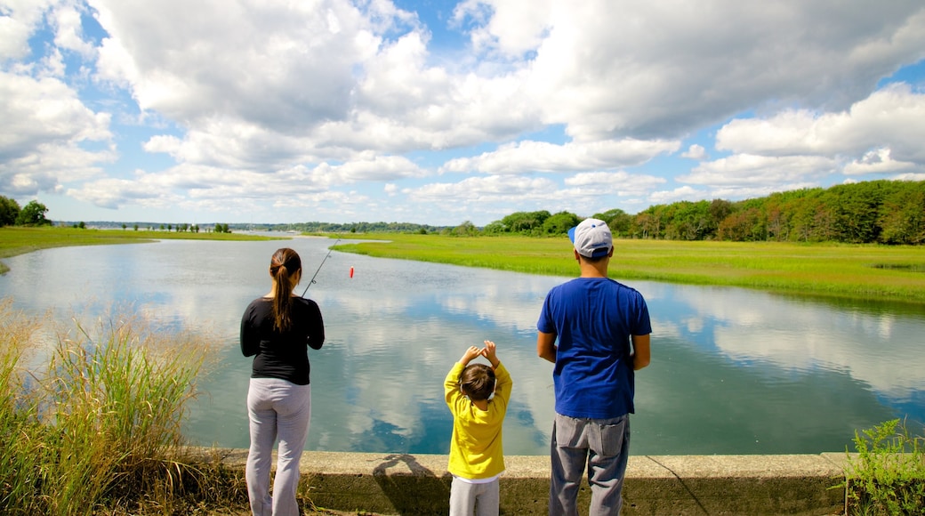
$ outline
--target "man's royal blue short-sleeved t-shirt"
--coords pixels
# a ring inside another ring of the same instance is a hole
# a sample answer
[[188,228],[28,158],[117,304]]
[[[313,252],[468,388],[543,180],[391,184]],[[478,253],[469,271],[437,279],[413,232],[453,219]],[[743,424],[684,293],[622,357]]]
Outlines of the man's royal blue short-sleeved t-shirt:
[[630,336],[648,335],[648,307],[635,289],[578,277],[549,290],[536,329],[558,336],[556,412],[610,419],[634,412]]

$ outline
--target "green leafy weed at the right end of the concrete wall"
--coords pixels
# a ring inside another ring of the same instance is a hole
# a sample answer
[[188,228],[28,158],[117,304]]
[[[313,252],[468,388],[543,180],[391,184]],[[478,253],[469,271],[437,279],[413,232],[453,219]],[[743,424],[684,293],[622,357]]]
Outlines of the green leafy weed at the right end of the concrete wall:
[[852,516],[925,514],[925,437],[894,419],[855,432],[856,456],[845,468],[845,513]]

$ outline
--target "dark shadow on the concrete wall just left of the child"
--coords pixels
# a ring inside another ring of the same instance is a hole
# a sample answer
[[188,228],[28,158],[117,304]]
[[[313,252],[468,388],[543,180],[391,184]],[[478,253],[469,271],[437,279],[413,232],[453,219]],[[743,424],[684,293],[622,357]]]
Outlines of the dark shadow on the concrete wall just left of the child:
[[[404,464],[400,471],[388,471]],[[447,514],[450,511],[450,473],[438,477],[413,455],[388,455],[373,469],[373,478],[400,514]]]

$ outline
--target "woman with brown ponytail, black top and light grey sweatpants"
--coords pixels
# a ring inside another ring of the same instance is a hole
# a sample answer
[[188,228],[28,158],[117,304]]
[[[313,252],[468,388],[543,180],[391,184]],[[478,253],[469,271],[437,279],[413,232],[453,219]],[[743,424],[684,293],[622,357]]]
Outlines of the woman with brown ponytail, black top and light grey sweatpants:
[[[240,350],[253,356],[247,412],[251,448],[247,456],[247,491],[254,516],[300,514],[296,502],[299,461],[312,416],[308,348],[320,350],[325,325],[317,303],[298,297],[302,259],[291,249],[270,260],[273,287],[251,301],[240,322]],[[273,446],[277,473],[270,496]]]

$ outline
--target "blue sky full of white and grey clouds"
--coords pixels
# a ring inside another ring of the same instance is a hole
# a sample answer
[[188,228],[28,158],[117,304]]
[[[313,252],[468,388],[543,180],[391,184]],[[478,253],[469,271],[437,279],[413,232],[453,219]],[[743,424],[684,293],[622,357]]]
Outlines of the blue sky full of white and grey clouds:
[[925,180],[920,0],[0,0],[53,221],[629,214]]

